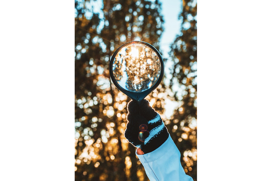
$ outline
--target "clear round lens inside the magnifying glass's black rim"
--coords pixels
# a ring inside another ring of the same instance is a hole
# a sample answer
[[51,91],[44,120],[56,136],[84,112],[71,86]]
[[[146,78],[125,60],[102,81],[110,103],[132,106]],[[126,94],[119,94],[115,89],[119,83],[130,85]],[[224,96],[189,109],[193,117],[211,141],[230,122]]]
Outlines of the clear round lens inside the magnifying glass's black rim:
[[151,47],[133,43],[124,46],[116,54],[113,76],[125,90],[142,92],[151,88],[161,73],[160,59]]

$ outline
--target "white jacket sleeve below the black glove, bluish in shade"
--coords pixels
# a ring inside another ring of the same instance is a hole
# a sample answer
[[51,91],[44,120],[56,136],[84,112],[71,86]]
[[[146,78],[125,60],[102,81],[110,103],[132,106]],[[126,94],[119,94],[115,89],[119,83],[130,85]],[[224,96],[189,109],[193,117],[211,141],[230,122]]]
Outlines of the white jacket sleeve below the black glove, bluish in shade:
[[169,135],[156,150],[139,155],[139,160],[150,181],[193,181],[180,164],[180,151]]

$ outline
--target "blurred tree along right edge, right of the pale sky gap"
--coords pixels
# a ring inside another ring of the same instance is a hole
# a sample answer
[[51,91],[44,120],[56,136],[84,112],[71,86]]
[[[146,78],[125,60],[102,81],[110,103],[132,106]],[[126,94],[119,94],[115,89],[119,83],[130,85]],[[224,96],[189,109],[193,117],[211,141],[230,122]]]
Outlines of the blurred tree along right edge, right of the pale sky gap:
[[[196,180],[196,119],[197,119],[197,5],[196,0],[183,0],[180,14],[181,34],[171,45],[173,61],[170,88],[179,103],[167,125],[171,137],[181,152],[181,164],[186,174]],[[176,89],[176,87],[179,87]]]

